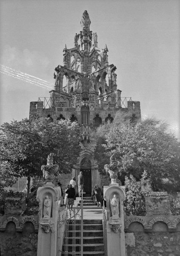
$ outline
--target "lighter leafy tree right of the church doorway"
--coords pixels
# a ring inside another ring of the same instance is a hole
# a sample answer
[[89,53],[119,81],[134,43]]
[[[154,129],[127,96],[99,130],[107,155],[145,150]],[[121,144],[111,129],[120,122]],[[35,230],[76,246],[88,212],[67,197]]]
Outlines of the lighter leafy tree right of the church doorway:
[[165,123],[157,119],[146,119],[133,126],[123,123],[112,127],[106,142],[107,154],[115,154],[120,174],[133,174],[140,180],[147,171],[154,190],[179,186],[179,142],[167,133]]

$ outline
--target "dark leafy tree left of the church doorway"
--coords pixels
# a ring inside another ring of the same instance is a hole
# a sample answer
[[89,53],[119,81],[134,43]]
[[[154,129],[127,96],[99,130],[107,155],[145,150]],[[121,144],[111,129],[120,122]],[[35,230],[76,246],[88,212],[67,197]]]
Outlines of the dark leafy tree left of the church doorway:
[[31,177],[42,175],[41,165],[50,153],[55,154],[60,173],[70,172],[80,153],[76,122],[22,119],[4,123],[1,131],[1,163],[6,162],[13,175],[28,177],[29,184]]

